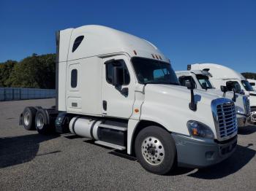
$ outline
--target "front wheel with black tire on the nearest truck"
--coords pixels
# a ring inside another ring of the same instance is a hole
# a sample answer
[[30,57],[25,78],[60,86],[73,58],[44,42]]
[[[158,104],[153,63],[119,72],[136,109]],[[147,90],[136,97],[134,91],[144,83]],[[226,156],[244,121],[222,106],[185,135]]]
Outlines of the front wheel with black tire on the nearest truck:
[[140,165],[154,174],[167,174],[176,166],[176,144],[166,130],[148,126],[135,139]]

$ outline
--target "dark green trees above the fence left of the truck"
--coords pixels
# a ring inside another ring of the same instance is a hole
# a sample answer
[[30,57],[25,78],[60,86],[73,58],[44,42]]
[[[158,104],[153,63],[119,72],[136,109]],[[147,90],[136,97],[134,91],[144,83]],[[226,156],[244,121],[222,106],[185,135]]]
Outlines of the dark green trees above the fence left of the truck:
[[20,62],[0,63],[0,87],[55,89],[55,62],[55,54],[33,54]]

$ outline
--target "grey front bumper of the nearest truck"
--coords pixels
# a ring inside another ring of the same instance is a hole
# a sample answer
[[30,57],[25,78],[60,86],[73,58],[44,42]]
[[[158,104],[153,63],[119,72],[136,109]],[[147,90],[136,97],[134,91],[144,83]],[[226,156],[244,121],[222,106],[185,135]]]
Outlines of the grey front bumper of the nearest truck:
[[171,134],[176,142],[178,165],[203,168],[225,160],[236,150],[237,136],[224,143],[197,141],[189,136]]

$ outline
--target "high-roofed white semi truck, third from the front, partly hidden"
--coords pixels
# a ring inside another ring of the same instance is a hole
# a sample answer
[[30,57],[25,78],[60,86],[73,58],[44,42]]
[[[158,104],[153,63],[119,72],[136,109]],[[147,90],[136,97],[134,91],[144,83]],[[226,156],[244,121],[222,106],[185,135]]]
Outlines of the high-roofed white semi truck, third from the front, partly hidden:
[[212,75],[210,77],[211,83],[218,89],[220,89],[221,85],[225,85],[229,91],[232,91],[235,85],[240,85],[241,94],[249,96],[251,122],[256,124],[256,92],[242,74],[216,63],[195,63],[188,65],[187,68],[189,70],[209,71]]

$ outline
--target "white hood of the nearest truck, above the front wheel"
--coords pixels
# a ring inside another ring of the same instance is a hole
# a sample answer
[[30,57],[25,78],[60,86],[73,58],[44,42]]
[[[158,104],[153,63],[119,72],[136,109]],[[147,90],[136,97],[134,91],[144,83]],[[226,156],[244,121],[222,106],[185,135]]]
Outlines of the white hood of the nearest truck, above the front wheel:
[[230,101],[218,95],[194,90],[196,111],[189,109],[191,93],[187,87],[180,85],[148,84],[144,87],[144,101],[141,107],[140,120],[153,120],[167,128],[170,132],[189,136],[187,122],[196,120],[208,125],[217,137],[214,124],[212,101]]

